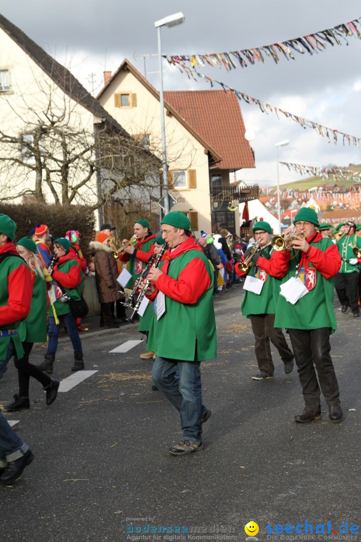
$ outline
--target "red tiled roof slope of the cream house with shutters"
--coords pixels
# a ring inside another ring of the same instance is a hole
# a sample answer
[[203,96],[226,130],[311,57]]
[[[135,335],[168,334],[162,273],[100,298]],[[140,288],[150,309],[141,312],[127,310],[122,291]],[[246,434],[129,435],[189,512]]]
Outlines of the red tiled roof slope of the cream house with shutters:
[[222,160],[217,169],[255,167],[239,100],[224,91],[165,92],[165,100],[209,142]]

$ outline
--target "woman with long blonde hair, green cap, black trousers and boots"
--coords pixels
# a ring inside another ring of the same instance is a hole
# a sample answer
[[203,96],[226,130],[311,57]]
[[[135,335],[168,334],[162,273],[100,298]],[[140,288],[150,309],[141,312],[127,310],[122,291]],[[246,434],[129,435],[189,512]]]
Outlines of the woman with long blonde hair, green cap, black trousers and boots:
[[[43,265],[40,257],[37,255],[34,241],[30,237],[23,237],[17,243],[17,250],[34,274],[34,289],[32,291],[29,316],[18,328],[24,349],[24,357],[18,359],[15,356],[14,358],[15,367],[18,372],[19,393],[14,395],[14,402],[5,406],[5,410],[8,411],[30,408],[29,380],[31,376],[36,378],[47,392],[47,405],[54,403],[60,384],[59,380],[50,378],[35,365],[29,363],[32,345],[34,343],[44,343],[47,340],[47,287]],[[8,350],[9,359],[13,353]]]

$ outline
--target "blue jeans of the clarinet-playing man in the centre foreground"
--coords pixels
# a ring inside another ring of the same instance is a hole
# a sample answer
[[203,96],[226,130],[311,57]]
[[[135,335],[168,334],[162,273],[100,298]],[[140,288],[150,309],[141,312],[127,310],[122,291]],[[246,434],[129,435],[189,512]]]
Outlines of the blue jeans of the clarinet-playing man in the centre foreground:
[[[179,411],[184,440],[202,442],[201,418],[207,408],[202,404],[200,363],[155,357],[153,380]],[[175,373],[179,371],[179,379]]]

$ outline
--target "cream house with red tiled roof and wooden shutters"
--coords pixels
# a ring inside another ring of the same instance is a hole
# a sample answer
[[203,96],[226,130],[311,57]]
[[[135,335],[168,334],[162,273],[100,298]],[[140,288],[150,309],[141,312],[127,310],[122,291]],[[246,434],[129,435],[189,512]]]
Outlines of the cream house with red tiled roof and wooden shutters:
[[[161,156],[159,92],[128,60],[113,75],[104,72],[97,100]],[[239,233],[238,204],[257,198],[259,189],[229,183],[231,172],[255,167],[237,96],[216,90],[165,92],[165,125],[172,211],[184,212],[196,234],[215,227]]]

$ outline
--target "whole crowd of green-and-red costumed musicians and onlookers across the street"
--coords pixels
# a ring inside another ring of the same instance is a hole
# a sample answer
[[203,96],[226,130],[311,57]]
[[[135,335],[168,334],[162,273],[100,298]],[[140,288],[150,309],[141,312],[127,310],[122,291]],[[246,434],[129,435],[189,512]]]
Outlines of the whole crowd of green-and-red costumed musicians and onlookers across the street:
[[[37,224],[15,241],[16,224],[0,215],[0,378],[11,358],[18,374],[18,393],[5,410],[30,407],[30,377],[43,386],[46,404],[54,403],[60,382],[50,375],[61,326],[73,346],[71,371],[84,369],[84,282],[94,273],[100,326],[119,328],[130,309],[130,319],[139,320],[139,331],[147,337],[141,358],[153,360],[152,389],[161,391],[180,414],[183,436],[170,447],[173,455],[202,448],[202,425],[211,409],[202,402],[200,363],[216,357],[214,298],[229,295],[235,283],[243,284],[241,312],[254,334],[259,372],[252,379],[274,378],[272,342],[286,375],[297,366],[304,410],[294,420],[320,420],[322,393],[330,421],[341,421],[330,355],[330,335],[337,327],[334,288],[342,313],[350,308],[359,317],[361,227],[346,222],[331,230],[319,223],[312,208],[297,212],[294,227],[274,236],[270,224],[260,220],[251,238],[233,238],[221,229],[201,231],[197,240],[187,216],[169,212],[159,235],[146,218],[138,218],[121,247],[115,245],[115,227],[102,224],[86,259],[78,231],[54,240],[48,225]],[[182,333],[169,333],[179,326]],[[47,343],[44,362],[37,366],[29,361],[34,343]],[[33,459],[0,412],[0,482],[14,482]]]

